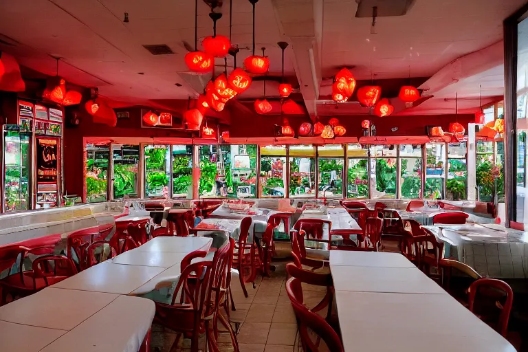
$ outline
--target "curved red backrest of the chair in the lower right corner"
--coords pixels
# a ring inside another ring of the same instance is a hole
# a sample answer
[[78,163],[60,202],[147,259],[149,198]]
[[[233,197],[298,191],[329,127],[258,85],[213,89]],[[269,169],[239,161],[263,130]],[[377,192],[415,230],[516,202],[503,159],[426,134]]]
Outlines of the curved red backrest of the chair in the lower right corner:
[[[499,297],[500,299],[493,299],[494,307],[500,310],[498,321],[494,324],[494,329],[503,337],[507,335],[509,314],[511,312],[511,305],[514,302],[514,292],[511,287],[504,281],[495,278],[481,278],[475,281],[470,286],[470,311],[475,311],[475,298],[479,290],[490,293],[492,297]],[[497,295],[499,294],[499,295]],[[485,321],[486,322],[486,321]]]

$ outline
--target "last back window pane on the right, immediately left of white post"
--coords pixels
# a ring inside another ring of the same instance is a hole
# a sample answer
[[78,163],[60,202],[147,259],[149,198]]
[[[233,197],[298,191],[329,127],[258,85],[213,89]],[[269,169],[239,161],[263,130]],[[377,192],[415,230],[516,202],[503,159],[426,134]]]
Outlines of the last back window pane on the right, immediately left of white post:
[[467,195],[467,143],[448,144],[447,199],[465,199]]

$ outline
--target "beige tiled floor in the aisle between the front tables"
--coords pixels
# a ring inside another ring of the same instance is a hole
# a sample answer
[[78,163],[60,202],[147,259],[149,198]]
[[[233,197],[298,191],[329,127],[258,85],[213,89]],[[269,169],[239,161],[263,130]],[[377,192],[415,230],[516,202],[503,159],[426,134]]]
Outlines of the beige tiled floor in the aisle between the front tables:
[[[259,277],[255,289],[251,283],[246,284],[248,298],[242,292],[238,277],[234,277],[231,287],[236,311],[231,311],[230,316],[232,323],[241,323],[236,336],[241,352],[298,351],[296,318],[285,289],[286,263],[274,263],[276,271],[270,278]],[[325,294],[318,287],[303,287],[303,292],[307,305],[318,303]],[[175,333],[153,326],[151,351],[170,351],[175,337]],[[181,339],[177,351],[189,351],[188,347],[190,341]],[[233,351],[228,333],[220,333],[219,347],[222,352]]]

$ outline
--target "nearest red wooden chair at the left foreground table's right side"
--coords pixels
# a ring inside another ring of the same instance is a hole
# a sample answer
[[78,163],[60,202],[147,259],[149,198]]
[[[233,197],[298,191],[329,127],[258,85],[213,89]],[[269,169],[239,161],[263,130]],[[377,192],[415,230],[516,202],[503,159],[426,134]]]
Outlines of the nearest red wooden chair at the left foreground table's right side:
[[[154,322],[178,333],[173,343],[177,346],[181,334],[191,339],[191,351],[198,351],[199,334],[205,331],[203,316],[206,309],[212,261],[199,261],[185,268],[179,277],[170,305],[154,302]],[[179,297],[179,303],[176,298]]]

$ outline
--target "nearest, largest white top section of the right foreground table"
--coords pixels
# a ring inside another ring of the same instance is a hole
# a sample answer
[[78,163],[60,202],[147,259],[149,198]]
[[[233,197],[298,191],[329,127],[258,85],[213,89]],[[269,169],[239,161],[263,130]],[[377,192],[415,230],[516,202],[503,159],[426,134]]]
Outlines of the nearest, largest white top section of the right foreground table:
[[344,351],[514,352],[448,294],[336,291]]

